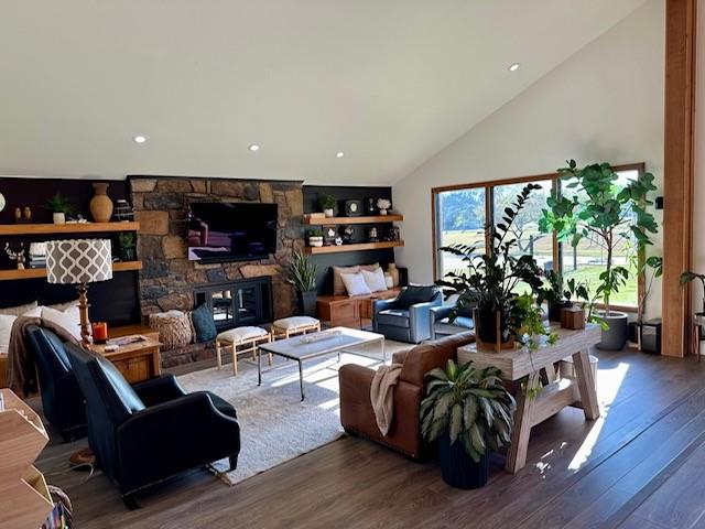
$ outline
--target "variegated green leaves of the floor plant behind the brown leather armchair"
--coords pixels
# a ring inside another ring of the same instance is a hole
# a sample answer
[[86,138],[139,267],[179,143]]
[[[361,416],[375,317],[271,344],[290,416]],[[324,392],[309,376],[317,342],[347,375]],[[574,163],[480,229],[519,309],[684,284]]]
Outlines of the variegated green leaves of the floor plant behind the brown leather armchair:
[[514,399],[499,378],[499,369],[475,369],[471,363],[426,374],[426,398],[421,402],[421,433],[435,441],[444,432],[458,440],[476,463],[489,450],[509,445]]

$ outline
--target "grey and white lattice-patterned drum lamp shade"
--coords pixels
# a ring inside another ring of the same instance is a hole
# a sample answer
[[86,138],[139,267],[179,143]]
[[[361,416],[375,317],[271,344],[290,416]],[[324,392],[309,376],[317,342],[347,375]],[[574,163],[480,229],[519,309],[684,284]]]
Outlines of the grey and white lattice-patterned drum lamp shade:
[[46,242],[50,283],[80,284],[112,279],[112,249],[107,239],[50,240]]

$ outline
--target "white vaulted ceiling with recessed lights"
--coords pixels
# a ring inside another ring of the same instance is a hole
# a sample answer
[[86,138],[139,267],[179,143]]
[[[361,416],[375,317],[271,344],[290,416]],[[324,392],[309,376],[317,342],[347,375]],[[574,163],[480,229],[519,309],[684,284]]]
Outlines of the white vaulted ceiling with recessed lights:
[[642,3],[0,0],[0,174],[390,184]]

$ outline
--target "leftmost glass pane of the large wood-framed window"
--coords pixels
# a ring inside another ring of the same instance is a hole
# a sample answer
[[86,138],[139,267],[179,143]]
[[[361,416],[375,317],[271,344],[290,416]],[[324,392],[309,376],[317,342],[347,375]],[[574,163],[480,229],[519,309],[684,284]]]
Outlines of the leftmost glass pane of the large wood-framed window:
[[[486,201],[484,187],[444,191],[435,195],[436,248],[464,244],[476,246],[478,253],[485,252]],[[465,264],[459,257],[437,252],[436,267],[440,276],[462,270]]]

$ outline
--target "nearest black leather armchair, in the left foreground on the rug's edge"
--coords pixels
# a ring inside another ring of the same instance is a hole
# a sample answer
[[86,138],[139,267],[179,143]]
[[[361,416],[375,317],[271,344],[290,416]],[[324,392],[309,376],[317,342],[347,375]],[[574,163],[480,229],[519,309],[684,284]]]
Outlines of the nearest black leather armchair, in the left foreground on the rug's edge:
[[240,425],[235,408],[209,391],[186,393],[173,375],[130,386],[100,355],[73,344],[66,352],[86,397],[88,444],[117,483],[124,504],[134,493],[214,461],[237,466]]

